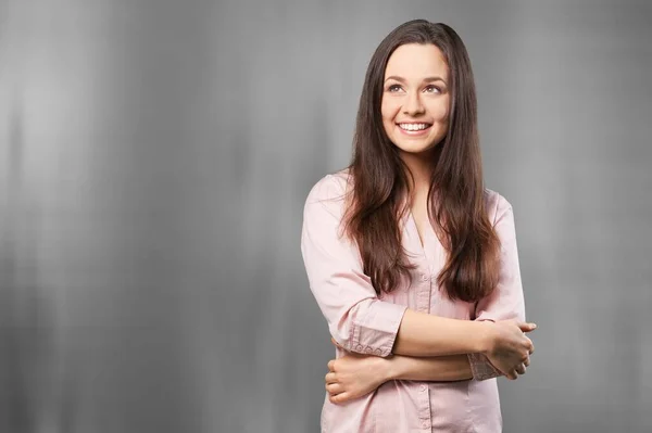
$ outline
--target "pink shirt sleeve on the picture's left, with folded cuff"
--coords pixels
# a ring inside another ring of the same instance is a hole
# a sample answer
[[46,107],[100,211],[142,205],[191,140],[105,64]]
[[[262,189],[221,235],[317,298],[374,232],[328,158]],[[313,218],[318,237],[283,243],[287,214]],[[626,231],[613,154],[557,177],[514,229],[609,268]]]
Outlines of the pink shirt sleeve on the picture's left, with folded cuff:
[[310,289],[340,346],[386,357],[408,307],[378,298],[362,270],[358,247],[340,237],[343,193],[344,188],[328,175],[306,199],[301,253]]

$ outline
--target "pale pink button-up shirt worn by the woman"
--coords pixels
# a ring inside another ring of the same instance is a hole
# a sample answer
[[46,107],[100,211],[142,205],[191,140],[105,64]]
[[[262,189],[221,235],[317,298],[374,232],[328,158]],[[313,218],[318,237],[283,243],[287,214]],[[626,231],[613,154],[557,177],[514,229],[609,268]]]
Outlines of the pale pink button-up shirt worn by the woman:
[[[406,308],[464,320],[525,320],[514,216],[510,203],[486,190],[490,220],[501,241],[500,282],[490,296],[467,303],[450,301],[436,282],[446,252],[431,227],[423,246],[411,214],[401,221],[402,243],[417,268],[411,286],[376,295],[354,243],[340,237],[347,170],[327,175],[311,190],[304,207],[301,251],[312,293],[333,338],[346,349],[391,355]],[[336,356],[346,352],[336,349]],[[391,380],[375,392],[344,404],[326,393],[323,433],[477,432],[502,429],[496,377],[479,354],[469,354],[473,380],[418,382]]]

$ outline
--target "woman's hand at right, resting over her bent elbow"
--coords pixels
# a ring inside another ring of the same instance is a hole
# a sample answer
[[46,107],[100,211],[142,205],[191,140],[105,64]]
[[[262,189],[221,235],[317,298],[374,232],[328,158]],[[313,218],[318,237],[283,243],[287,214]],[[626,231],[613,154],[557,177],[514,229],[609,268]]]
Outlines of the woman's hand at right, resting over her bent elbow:
[[525,374],[529,366],[529,356],[535,346],[525,333],[534,331],[535,323],[523,323],[515,320],[487,322],[489,345],[485,355],[489,361],[507,379],[515,380]]

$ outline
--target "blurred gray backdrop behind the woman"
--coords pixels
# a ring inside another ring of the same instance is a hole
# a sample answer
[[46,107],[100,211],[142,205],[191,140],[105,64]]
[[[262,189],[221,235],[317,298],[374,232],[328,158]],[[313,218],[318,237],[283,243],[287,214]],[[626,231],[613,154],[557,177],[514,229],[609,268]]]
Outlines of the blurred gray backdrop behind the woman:
[[652,431],[652,4],[615,0],[0,2],[0,431],[316,432],[303,202],[414,17],[465,41],[515,209],[505,432]]

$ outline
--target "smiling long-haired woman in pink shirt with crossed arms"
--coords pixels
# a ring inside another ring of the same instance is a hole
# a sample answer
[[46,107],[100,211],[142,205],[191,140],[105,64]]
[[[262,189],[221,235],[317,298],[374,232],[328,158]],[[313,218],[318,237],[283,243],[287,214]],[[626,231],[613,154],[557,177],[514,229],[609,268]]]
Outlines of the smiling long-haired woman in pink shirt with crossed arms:
[[496,378],[525,373],[510,203],[485,189],[471,62],[411,21],[374,53],[350,166],[322,178],[301,250],[337,359],[322,432],[500,432]]

